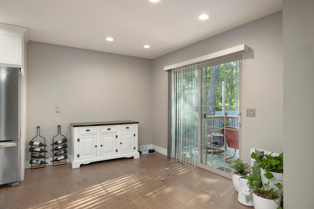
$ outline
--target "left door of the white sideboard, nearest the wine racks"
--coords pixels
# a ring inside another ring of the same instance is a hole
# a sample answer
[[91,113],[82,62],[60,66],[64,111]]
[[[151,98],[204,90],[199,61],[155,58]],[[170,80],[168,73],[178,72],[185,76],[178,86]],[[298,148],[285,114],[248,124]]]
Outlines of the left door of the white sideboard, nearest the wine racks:
[[78,154],[74,156],[78,160],[96,158],[96,134],[78,136]]

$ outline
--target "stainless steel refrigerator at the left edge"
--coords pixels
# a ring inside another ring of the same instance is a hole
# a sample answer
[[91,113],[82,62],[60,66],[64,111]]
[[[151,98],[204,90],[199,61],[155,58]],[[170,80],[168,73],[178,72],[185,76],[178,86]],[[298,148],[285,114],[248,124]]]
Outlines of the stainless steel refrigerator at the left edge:
[[20,69],[0,66],[0,185],[20,183]]

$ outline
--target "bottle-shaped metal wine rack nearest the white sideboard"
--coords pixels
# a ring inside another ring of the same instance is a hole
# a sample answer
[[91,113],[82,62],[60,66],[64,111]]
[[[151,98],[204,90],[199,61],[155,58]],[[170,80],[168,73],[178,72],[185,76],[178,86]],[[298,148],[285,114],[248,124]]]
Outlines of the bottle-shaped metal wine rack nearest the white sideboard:
[[[58,133],[52,138],[52,163],[53,165],[66,164],[68,139],[61,134],[61,126],[58,125]],[[59,139],[59,140],[58,140]]]

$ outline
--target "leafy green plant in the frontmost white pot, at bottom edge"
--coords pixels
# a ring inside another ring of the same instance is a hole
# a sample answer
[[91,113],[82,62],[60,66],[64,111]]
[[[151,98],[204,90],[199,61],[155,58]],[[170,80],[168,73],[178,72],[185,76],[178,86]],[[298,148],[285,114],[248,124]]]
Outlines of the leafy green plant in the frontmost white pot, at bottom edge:
[[[274,186],[270,186],[270,184],[272,184],[270,181],[262,183],[261,175],[265,176],[261,174],[262,165],[267,164],[267,160],[271,161],[271,158],[267,158],[266,156],[269,155],[264,155],[261,151],[251,154],[251,157],[255,159],[255,163],[252,167],[252,174],[245,175],[245,179],[248,180],[248,186],[251,192],[253,192],[253,205],[255,209],[282,209],[282,207],[280,207],[281,196],[278,194],[278,191],[282,189],[282,184],[274,183]],[[270,166],[267,167],[270,168]],[[271,171],[265,170],[265,173],[268,172]],[[270,178],[269,174],[266,174],[266,176]]]

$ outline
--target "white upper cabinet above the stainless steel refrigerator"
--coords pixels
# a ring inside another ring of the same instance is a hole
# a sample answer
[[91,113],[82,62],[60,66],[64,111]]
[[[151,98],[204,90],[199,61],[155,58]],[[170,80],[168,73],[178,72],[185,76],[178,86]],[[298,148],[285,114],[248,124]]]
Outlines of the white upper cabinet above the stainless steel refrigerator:
[[0,64],[23,65],[27,28],[0,23]]

